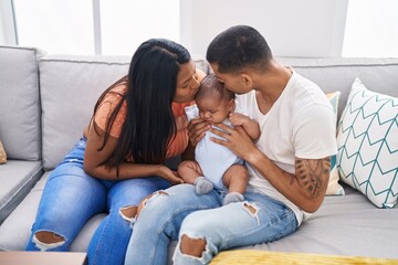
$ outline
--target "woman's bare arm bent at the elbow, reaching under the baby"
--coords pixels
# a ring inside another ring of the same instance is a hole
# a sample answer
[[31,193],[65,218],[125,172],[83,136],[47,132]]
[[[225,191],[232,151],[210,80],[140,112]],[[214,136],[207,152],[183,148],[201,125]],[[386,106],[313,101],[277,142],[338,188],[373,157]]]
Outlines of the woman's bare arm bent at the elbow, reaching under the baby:
[[[114,152],[117,138],[109,136],[105,147],[98,150],[103,144],[105,132],[92,124],[92,128],[87,131],[87,146],[84,152],[84,171],[98,179],[122,180],[142,177],[158,176],[170,183],[181,183],[182,180],[164,165],[144,165],[134,162],[123,162],[118,167],[102,165]],[[98,132],[98,134],[97,134]],[[117,176],[118,168],[118,176]]]

